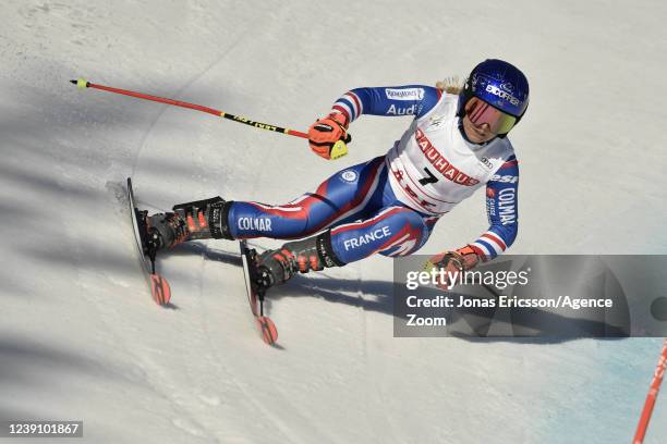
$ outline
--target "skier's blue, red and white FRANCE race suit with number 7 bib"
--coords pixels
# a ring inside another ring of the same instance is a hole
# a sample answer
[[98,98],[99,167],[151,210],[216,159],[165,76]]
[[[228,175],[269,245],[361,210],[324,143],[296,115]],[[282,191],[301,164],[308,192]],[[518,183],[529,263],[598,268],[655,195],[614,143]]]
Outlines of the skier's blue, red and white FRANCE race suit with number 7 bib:
[[294,239],[330,229],[342,262],[377,252],[405,256],[426,243],[440,217],[485,184],[490,226],[470,245],[482,260],[495,258],[517,236],[518,161],[507,138],[466,140],[457,99],[420,85],[344,94],[332,111],[350,122],[362,114],[414,120],[387,155],[345,168],[289,203],[234,201],[231,235]]

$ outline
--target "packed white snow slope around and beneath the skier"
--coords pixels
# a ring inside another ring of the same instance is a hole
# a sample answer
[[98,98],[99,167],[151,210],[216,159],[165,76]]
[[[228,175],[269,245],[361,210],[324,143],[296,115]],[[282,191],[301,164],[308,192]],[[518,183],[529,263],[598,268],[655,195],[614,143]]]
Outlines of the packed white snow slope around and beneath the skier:
[[[303,131],[350,88],[502,58],[532,88],[511,135],[512,251],[665,254],[666,15],[659,1],[4,0],[0,419],[80,419],[76,443],[629,442],[659,340],[395,338],[386,258],[276,291],[281,348],[251,324],[233,243],[174,250],[161,266],[178,309],[150,300],[126,176],[151,208],[282,203],[384,153],[409,118],[362,118],[327,162],[298,138],[69,81]],[[422,252],[485,229],[480,194]],[[646,442],[665,434],[667,396]]]

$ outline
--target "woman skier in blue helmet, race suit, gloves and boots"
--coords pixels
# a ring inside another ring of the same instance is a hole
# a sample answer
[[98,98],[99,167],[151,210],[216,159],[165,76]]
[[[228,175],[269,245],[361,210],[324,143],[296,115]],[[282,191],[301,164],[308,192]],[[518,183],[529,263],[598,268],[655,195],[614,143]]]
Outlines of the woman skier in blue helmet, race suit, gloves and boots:
[[519,168],[507,134],[527,104],[527,79],[501,60],[476,65],[458,95],[420,85],[352,89],[310,127],[312,150],[336,157],[337,143],[349,140],[348,127],[362,114],[414,115],[386,155],[345,168],[286,205],[220,197],[177,205],[147,218],[149,242],[160,249],[210,237],[301,239],[257,257],[257,285],[266,289],[298,271],[376,252],[410,255],[440,217],[486,184],[489,229],[430,260],[445,271],[470,270],[517,236]]

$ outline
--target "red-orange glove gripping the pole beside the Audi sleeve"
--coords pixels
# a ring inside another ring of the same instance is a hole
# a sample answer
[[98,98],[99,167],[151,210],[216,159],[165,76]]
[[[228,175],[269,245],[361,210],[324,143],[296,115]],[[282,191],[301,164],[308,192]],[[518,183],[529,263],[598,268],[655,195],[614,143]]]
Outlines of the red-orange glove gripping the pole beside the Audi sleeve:
[[352,140],[352,136],[348,134],[348,118],[340,112],[332,112],[324,119],[318,119],[308,128],[311,149],[325,159],[344,156],[348,152],[344,144]]

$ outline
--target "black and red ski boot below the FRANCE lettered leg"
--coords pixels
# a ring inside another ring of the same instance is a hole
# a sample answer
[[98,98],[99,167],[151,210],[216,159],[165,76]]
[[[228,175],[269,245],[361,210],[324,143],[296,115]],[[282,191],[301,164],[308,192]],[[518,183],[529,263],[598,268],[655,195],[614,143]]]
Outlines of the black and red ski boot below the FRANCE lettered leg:
[[342,266],[344,262],[336,257],[331,247],[331,232],[326,231],[257,256],[255,283],[260,292],[266,292],[274,285],[289,281],[296,272],[307,273]]

